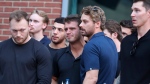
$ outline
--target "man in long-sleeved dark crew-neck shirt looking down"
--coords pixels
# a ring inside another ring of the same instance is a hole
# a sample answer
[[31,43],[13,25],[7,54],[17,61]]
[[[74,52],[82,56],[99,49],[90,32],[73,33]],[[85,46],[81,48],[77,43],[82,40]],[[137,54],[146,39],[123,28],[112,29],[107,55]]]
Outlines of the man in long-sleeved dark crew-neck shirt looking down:
[[10,14],[12,38],[0,43],[0,84],[49,84],[52,58],[48,49],[29,35],[27,13]]

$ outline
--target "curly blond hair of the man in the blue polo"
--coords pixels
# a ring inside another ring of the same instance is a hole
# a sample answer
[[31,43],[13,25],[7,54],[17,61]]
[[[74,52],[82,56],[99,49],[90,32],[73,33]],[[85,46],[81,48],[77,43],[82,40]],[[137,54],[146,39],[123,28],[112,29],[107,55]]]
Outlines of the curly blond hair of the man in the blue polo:
[[98,6],[87,6],[81,11],[81,14],[89,15],[93,22],[101,22],[100,28],[103,30],[105,28],[105,12]]

